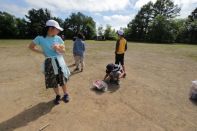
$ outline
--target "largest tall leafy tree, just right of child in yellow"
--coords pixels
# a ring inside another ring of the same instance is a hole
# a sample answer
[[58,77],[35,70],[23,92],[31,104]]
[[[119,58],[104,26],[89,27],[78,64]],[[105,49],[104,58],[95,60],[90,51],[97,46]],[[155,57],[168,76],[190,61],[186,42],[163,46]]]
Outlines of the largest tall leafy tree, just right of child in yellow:
[[126,37],[129,40],[174,42],[177,36],[176,22],[180,12],[172,0],[157,0],[145,4],[128,24]]

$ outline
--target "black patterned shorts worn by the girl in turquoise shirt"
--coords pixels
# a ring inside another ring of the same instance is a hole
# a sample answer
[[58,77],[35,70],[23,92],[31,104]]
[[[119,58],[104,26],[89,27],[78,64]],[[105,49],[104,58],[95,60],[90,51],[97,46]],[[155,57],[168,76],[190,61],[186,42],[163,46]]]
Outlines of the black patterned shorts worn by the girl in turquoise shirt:
[[61,71],[61,67],[57,59],[55,59],[57,67],[58,67],[58,75],[55,75],[53,66],[52,66],[52,59],[48,58],[45,60],[45,85],[46,88],[57,88],[58,84],[63,86],[66,84],[67,79],[64,77],[63,72]]

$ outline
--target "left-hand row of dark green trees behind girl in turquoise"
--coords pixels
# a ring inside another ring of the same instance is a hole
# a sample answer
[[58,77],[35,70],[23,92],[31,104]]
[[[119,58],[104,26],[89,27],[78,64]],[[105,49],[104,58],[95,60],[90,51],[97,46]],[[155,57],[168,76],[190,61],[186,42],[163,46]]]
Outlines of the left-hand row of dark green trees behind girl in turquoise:
[[96,22],[92,17],[78,12],[62,20],[53,17],[48,9],[41,8],[29,10],[25,18],[16,18],[7,12],[0,12],[0,38],[34,38],[42,34],[43,27],[49,19],[58,21],[65,29],[60,35],[65,35],[66,39],[72,39],[78,32],[83,33],[86,39],[93,39],[96,36]]

